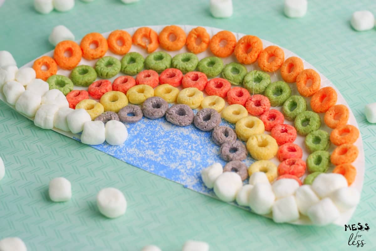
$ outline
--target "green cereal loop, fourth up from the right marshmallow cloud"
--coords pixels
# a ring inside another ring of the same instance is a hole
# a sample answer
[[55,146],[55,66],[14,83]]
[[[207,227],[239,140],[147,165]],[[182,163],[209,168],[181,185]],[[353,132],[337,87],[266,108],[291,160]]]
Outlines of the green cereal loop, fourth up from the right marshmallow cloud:
[[321,126],[321,119],[320,116],[318,116],[317,113],[314,113],[313,111],[303,111],[302,113],[299,113],[295,120],[294,120],[294,126],[297,132],[299,132],[300,135],[307,135],[312,131],[316,131]]

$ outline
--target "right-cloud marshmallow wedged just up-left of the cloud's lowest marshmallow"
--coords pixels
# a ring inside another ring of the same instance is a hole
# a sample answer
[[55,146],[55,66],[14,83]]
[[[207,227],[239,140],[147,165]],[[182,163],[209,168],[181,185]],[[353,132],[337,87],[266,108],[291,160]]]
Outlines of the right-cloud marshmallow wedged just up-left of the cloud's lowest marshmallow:
[[300,186],[295,192],[295,200],[301,214],[307,215],[308,208],[320,201],[311,185]]

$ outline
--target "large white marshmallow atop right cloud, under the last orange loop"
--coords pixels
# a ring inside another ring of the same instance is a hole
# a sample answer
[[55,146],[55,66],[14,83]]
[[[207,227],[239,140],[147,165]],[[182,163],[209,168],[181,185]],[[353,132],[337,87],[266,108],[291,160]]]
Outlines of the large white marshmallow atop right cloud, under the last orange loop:
[[341,187],[347,187],[346,178],[339,173],[321,173],[312,183],[312,189],[319,198],[324,198]]

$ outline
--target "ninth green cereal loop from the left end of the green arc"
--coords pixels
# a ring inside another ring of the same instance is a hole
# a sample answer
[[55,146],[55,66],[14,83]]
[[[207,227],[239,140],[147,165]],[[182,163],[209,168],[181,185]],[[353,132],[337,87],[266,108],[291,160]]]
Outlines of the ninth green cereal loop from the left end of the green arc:
[[244,88],[250,94],[263,94],[270,83],[270,75],[264,71],[250,71],[243,79]]

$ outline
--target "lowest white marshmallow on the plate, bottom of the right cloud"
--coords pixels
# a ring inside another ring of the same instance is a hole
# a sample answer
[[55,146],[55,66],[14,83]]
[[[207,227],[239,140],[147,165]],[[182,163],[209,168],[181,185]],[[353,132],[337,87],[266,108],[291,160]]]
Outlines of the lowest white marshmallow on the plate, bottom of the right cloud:
[[329,198],[324,198],[311,206],[307,211],[307,216],[315,225],[327,225],[334,222],[340,215],[338,208]]

